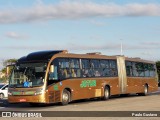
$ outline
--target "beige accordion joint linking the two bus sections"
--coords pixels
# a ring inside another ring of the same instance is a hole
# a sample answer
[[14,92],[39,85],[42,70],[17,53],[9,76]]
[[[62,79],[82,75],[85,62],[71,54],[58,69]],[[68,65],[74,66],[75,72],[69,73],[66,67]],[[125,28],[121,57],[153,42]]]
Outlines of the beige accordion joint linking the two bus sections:
[[125,58],[117,56],[118,77],[119,77],[119,90],[120,94],[125,94],[127,91],[127,77],[125,68]]

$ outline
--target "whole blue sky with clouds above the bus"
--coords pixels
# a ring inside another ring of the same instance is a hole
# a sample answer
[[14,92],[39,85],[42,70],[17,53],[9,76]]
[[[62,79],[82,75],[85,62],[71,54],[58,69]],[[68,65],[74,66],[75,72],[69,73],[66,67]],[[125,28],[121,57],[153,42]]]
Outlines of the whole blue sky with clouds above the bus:
[[0,0],[0,68],[43,50],[160,60],[160,0]]

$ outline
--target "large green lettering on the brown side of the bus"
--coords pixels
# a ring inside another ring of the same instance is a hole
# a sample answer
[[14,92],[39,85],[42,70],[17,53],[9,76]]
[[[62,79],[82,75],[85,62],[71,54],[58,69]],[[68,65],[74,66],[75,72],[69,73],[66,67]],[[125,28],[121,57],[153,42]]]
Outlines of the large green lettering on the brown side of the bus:
[[96,86],[96,80],[83,80],[80,84],[81,88]]

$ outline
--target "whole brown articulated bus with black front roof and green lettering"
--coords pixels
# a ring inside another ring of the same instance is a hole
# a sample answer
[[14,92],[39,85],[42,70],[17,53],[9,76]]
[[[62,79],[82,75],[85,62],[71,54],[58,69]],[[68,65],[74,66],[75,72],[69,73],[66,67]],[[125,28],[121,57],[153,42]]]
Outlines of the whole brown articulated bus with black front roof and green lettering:
[[154,62],[99,53],[41,51],[20,58],[9,78],[9,103],[61,103],[158,90]]

